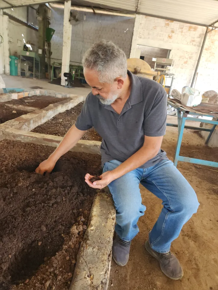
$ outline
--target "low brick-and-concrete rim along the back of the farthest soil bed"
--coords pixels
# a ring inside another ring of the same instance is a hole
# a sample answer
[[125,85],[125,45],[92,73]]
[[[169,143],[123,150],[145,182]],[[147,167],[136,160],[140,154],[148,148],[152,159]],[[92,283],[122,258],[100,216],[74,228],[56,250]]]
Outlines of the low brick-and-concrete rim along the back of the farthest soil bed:
[[12,99],[21,99],[24,97],[31,97],[31,96],[40,96],[40,95],[45,95],[45,96],[52,96],[55,98],[73,98],[76,95],[74,94],[66,94],[66,93],[61,93],[61,92],[56,92],[53,90],[44,90],[44,89],[37,89],[37,90],[32,90],[32,91],[24,91],[21,93],[5,93],[0,96],[0,102],[8,102],[11,101]]

